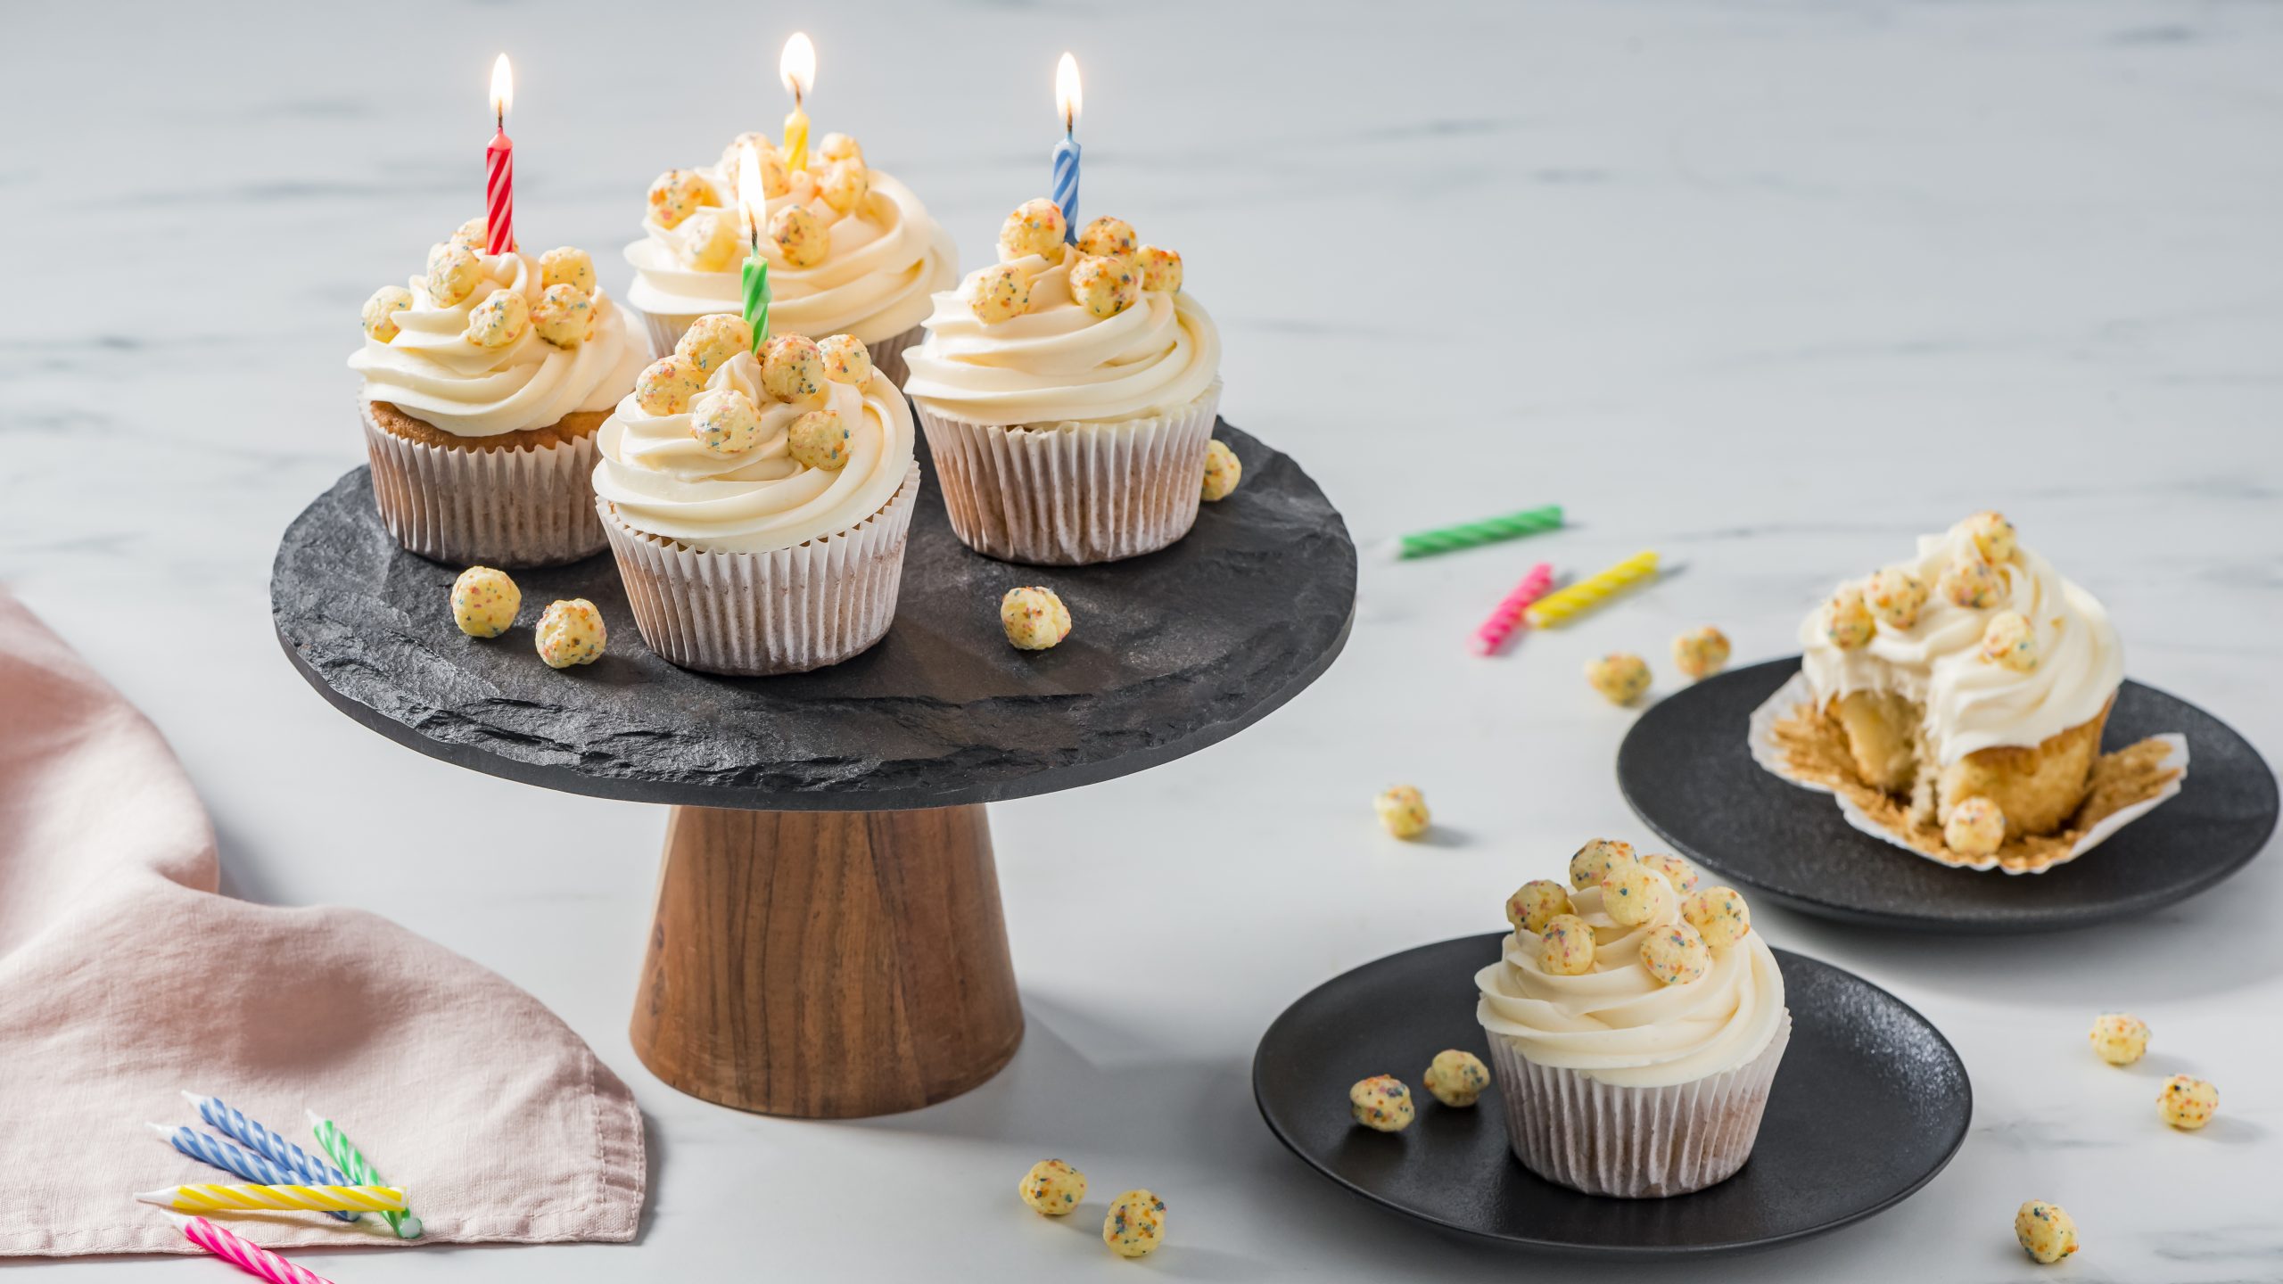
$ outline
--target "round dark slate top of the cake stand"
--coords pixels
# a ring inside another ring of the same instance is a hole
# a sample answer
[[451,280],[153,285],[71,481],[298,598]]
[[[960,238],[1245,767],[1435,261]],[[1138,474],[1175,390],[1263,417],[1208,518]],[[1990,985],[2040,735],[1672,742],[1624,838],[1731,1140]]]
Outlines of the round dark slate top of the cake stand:
[[[402,551],[365,468],[285,530],[269,576],[295,667],[374,731],[498,777],[692,806],[886,811],[1052,793],[1139,772],[1258,722],[1347,642],[1356,546],[1299,464],[1217,425],[1244,464],[1167,551],[1103,567],[1016,567],[952,537],[927,478],[888,635],[810,674],[724,679],[642,644],[610,553],[516,571],[523,617],[475,640],[452,626],[452,578]],[[1016,651],[998,601],[1050,585],[1075,626]],[[610,653],[548,669],[532,624],[591,599]]]

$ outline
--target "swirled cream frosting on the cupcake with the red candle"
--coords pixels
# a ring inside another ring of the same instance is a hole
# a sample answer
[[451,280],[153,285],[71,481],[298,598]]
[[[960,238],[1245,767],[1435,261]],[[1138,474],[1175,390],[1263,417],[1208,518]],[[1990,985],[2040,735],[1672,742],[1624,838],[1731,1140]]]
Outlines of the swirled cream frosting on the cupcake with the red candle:
[[461,338],[468,313],[495,290],[516,290],[537,304],[539,263],[521,251],[477,254],[484,267],[475,290],[443,306],[422,276],[411,279],[413,306],[395,313],[397,336],[349,354],[349,370],[365,377],[368,402],[400,411],[457,436],[498,436],[548,427],[573,411],[607,411],[648,361],[639,320],[594,292],[594,331],[578,347],[555,347],[525,327],[507,347],[477,347]]

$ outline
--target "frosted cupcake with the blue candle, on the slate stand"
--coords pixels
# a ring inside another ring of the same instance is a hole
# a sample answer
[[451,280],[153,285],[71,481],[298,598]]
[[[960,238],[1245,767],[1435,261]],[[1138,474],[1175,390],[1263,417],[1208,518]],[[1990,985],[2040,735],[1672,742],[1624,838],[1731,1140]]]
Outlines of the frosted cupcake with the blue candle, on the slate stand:
[[1123,219],[1064,233],[1043,196],[1007,215],[1000,260],[936,295],[904,391],[959,539],[1080,567],[1189,532],[1221,334],[1171,249],[1139,244]]

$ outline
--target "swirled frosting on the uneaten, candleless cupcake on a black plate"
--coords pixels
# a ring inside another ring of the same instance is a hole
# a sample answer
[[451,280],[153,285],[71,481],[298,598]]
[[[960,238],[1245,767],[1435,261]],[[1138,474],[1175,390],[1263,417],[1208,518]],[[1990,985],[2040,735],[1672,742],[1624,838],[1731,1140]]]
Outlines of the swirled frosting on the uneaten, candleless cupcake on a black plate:
[[1475,1019],[1527,1060],[1664,1088],[1735,1069],[1776,1037],[1783,973],[1758,932],[1715,948],[1703,978],[1664,985],[1641,966],[1641,939],[1678,916],[1671,902],[1639,928],[1603,914],[1598,886],[1573,891],[1571,905],[1594,928],[1594,971],[1555,976],[1539,966],[1539,937],[1511,932],[1504,957],[1475,973]]

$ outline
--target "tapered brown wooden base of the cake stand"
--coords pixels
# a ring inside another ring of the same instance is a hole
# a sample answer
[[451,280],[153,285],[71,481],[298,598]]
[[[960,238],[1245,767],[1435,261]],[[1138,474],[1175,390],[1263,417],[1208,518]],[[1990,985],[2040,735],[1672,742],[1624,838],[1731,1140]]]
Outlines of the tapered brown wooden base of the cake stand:
[[890,1115],[991,1078],[1023,1008],[984,809],[676,806],[632,1035],[658,1078],[765,1115]]

